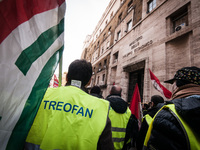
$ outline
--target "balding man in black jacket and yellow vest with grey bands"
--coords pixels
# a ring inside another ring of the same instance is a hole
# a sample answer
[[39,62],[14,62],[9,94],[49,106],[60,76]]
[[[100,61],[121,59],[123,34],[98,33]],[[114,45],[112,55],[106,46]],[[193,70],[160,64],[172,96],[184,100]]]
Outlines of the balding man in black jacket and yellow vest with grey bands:
[[128,108],[127,102],[121,98],[122,89],[118,85],[111,88],[106,100],[110,102],[109,118],[112,126],[112,138],[115,150],[134,147],[138,133],[138,122]]

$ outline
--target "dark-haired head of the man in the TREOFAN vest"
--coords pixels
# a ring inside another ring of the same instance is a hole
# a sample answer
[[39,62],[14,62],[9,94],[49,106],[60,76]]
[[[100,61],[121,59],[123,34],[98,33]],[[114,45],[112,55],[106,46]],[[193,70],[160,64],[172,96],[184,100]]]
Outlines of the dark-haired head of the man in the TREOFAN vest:
[[91,63],[83,59],[77,59],[69,65],[67,73],[67,84],[72,84],[73,81],[81,81],[81,86],[85,86],[90,81],[91,76]]

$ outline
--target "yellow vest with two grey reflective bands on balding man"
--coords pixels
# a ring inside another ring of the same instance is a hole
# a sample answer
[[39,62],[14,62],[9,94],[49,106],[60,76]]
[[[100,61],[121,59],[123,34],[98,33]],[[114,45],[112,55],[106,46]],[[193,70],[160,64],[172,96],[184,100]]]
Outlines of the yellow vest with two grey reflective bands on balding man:
[[123,114],[116,113],[111,107],[109,118],[112,126],[112,139],[115,149],[122,149],[124,145],[126,127],[131,116],[131,111],[127,108]]

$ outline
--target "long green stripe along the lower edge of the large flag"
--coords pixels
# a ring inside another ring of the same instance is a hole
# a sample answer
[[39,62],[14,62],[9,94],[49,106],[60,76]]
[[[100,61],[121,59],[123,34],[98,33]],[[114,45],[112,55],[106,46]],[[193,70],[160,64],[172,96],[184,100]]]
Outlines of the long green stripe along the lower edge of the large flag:
[[42,69],[31,94],[26,101],[24,110],[13,129],[6,150],[23,150],[24,143],[34,121],[35,115],[39,109],[43,96],[48,88],[51,77],[53,76],[58,62],[62,56],[64,46],[62,46],[55,54],[49,59],[44,68]]

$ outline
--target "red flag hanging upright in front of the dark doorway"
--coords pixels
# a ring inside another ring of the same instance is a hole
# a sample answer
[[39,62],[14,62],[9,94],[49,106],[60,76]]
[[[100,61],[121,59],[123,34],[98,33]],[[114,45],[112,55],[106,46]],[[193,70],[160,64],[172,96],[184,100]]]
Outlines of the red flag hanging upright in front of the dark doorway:
[[138,119],[139,125],[142,119],[142,106],[138,84],[136,83],[131,103],[129,106],[131,113]]

